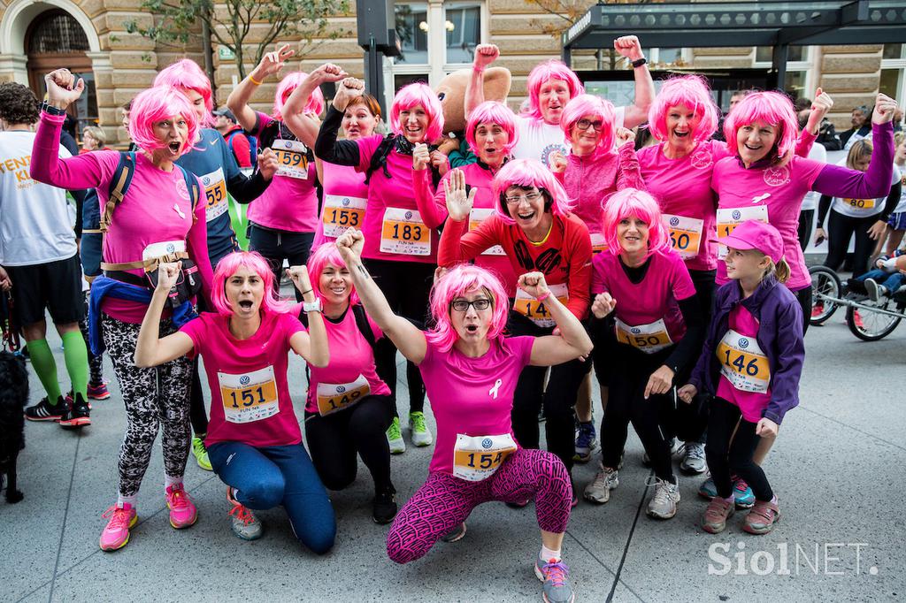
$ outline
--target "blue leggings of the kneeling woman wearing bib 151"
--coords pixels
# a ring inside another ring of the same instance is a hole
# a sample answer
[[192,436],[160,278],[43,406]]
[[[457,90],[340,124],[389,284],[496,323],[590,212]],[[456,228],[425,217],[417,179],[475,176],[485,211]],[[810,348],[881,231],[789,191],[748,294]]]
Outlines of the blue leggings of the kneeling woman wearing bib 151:
[[207,456],[217,476],[236,489],[237,501],[255,510],[282,504],[300,542],[319,555],[333,548],[336,517],[303,445],[217,442]]

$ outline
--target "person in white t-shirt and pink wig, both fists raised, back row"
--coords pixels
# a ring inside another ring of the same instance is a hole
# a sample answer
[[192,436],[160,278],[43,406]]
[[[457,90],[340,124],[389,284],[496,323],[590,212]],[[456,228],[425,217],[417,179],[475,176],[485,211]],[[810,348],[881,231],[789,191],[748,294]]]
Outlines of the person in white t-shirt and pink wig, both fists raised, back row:
[[[635,73],[635,103],[617,107],[613,128],[634,128],[648,120],[648,108],[654,100],[654,81],[648,71],[647,61],[641,53],[641,43],[634,35],[625,35],[613,41],[617,53],[626,57]],[[481,85],[488,65],[500,55],[494,44],[479,44],[475,49],[472,78],[466,89],[466,115],[485,101]],[[560,116],[566,103],[582,94],[584,88],[579,78],[564,62],[551,60],[539,63],[528,75],[526,83],[528,102],[525,110],[516,116],[519,139],[513,148],[514,158],[538,159],[545,166],[554,151],[567,155],[569,148],[560,129]]]

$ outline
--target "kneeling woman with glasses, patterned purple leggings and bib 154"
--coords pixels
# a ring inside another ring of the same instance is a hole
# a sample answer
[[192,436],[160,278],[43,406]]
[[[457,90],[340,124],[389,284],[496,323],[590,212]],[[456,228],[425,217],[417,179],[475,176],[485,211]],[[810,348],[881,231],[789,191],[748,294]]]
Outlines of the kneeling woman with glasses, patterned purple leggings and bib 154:
[[468,265],[435,282],[430,308],[436,324],[421,331],[390,311],[361,263],[363,243],[364,236],[350,229],[337,247],[371,318],[419,367],[438,420],[428,480],[390,528],[390,559],[417,560],[448,532],[461,536],[478,504],[532,499],[543,543],[534,570],[545,584],[545,600],[573,601],[560,552],[573,497],[569,474],[556,456],[520,448],[510,416],[525,366],[587,356],[592,341],[573,313],[550,295],[542,273],[522,275],[518,286],[549,304],[561,336],[504,337],[506,292],[493,274]]

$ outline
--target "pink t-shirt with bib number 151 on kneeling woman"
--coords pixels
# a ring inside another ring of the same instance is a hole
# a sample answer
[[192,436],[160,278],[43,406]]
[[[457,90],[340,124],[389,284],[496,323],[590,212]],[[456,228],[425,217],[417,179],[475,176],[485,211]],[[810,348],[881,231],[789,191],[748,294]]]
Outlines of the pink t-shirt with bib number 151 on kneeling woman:
[[260,448],[302,441],[286,382],[290,338],[304,330],[292,314],[265,312],[254,336],[237,340],[229,318],[202,312],[180,331],[192,339],[190,357],[204,359],[211,388],[205,445],[242,442]]

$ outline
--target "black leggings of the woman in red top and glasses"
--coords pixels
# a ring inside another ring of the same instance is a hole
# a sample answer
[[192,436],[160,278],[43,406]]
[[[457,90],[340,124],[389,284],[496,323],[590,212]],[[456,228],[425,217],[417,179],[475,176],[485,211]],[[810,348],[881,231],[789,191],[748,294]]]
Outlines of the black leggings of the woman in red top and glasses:
[[[553,327],[539,327],[525,316],[510,311],[507,330],[513,336],[550,335]],[[545,411],[547,451],[557,455],[566,469],[573,471],[575,455],[575,398],[583,378],[592,369],[592,360],[570,360],[550,368],[545,388],[547,367],[525,367],[516,382],[513,396],[513,433],[524,448],[538,448],[541,430],[538,412]]]

